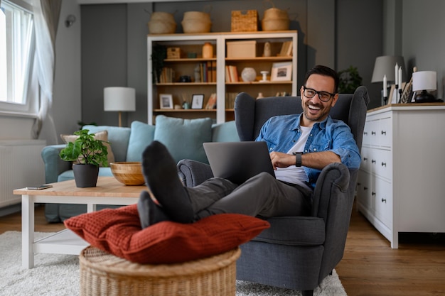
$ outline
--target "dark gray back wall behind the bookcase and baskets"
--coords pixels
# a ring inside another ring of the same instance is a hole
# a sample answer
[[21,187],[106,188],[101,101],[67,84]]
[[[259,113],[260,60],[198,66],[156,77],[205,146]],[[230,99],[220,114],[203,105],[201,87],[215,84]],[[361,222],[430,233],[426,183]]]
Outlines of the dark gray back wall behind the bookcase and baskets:
[[[274,3],[288,10],[290,29],[299,31],[298,84],[313,65],[336,70],[353,65],[370,91],[380,92],[378,86],[370,84],[370,77],[375,57],[382,53],[381,0]],[[117,125],[117,114],[103,111],[103,88],[107,86],[136,88],[136,112],[124,114],[125,126],[134,120],[147,120],[146,23],[151,11],[174,13],[177,33],[182,33],[184,12],[210,11],[212,31],[230,32],[232,10],[257,9],[261,20],[269,7],[262,0],[82,5],[82,120]]]

